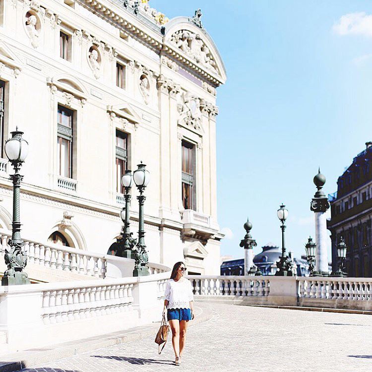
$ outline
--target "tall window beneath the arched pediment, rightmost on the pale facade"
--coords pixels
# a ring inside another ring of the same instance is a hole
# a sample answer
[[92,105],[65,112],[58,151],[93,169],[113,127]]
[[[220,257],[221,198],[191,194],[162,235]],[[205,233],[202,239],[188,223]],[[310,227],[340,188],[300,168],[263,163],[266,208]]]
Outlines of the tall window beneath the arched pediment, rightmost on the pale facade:
[[182,200],[185,209],[196,209],[195,146],[182,141]]

